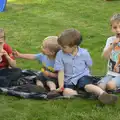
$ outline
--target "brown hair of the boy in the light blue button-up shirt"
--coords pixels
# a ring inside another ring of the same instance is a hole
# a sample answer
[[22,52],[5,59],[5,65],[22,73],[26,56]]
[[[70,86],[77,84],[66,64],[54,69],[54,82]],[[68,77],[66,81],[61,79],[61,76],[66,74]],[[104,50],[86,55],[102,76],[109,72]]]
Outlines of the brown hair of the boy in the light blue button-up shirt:
[[79,46],[81,42],[82,42],[82,36],[80,32],[73,28],[63,31],[58,37],[58,44],[60,44],[61,46],[65,46],[65,45],[70,47],[74,45]]

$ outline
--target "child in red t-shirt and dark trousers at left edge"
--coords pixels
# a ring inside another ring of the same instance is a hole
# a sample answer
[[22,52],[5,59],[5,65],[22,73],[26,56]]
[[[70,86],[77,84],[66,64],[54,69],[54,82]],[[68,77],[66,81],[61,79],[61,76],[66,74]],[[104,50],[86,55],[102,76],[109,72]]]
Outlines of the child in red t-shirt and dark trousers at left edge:
[[0,28],[0,87],[12,86],[21,76],[21,70],[16,68],[12,48],[5,41],[5,32]]

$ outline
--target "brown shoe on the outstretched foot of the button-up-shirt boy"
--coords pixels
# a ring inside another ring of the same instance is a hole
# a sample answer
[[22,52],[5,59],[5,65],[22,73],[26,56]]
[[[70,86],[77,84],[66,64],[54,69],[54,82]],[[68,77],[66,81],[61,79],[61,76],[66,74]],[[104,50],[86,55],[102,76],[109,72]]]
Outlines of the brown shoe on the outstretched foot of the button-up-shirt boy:
[[116,95],[104,92],[98,97],[98,100],[100,100],[100,102],[103,104],[114,104],[117,102],[118,97]]

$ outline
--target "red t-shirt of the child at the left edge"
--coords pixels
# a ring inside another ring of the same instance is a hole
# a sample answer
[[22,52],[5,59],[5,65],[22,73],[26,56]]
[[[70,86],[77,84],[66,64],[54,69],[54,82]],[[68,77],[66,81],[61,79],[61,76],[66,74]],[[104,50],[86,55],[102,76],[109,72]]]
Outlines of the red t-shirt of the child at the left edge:
[[[12,59],[14,59],[14,56],[12,54],[12,48],[8,44],[5,43],[4,46],[3,46],[3,49],[8,53],[8,55]],[[2,56],[2,61],[0,62],[0,69],[1,68],[6,68],[8,66],[9,66],[8,61],[7,61],[6,57],[3,55]]]

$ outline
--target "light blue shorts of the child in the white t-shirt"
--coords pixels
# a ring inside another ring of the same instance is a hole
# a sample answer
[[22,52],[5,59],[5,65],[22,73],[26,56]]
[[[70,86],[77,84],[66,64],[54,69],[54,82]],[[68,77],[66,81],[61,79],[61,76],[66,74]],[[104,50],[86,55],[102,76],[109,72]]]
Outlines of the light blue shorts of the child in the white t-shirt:
[[111,75],[106,75],[103,77],[97,84],[103,84],[106,85],[109,81],[114,81],[116,84],[117,88],[120,88],[120,76],[111,76]]

